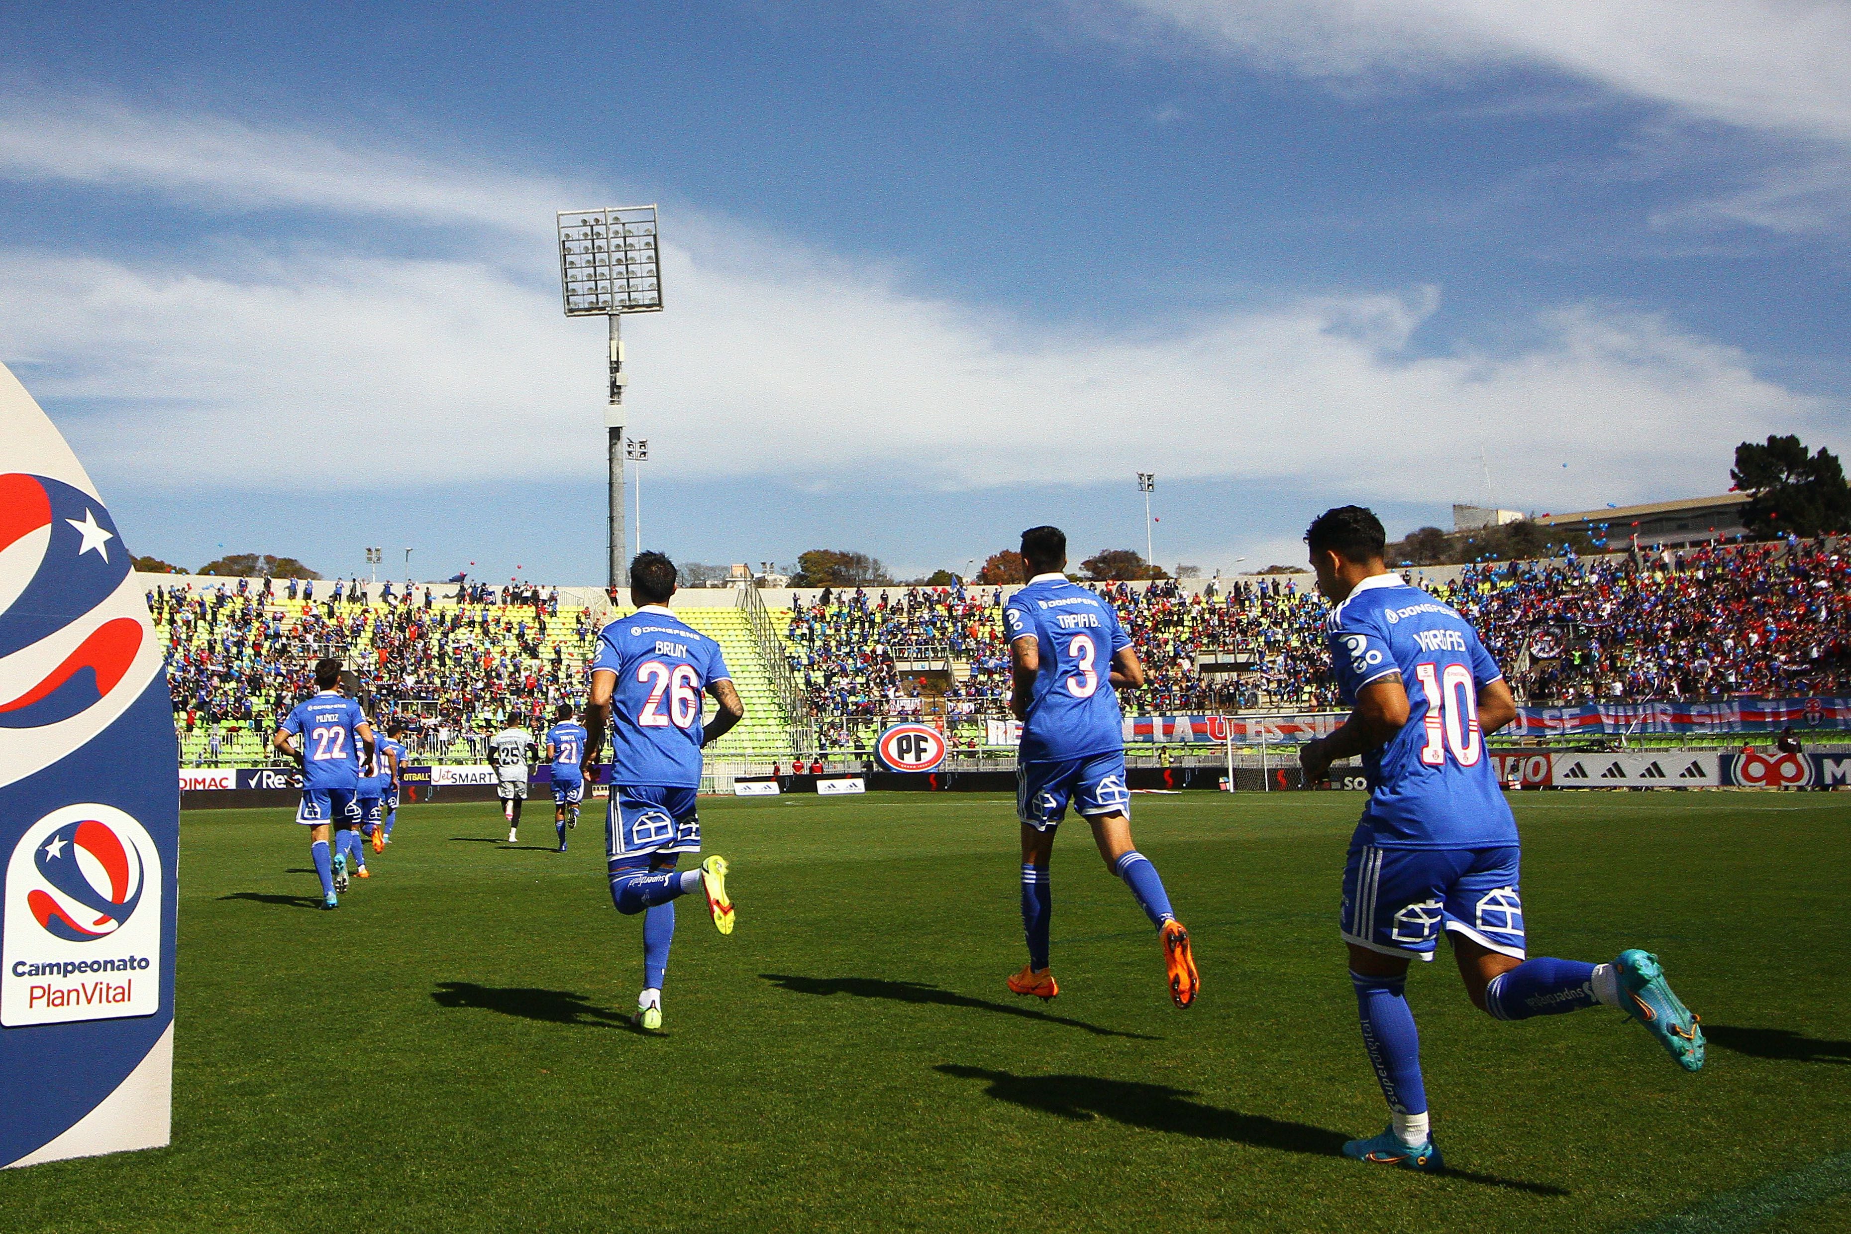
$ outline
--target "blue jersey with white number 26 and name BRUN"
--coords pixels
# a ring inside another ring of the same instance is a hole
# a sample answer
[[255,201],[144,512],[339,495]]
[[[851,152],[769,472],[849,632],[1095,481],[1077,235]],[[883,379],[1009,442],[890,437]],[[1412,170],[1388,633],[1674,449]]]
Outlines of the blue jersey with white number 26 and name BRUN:
[[603,628],[590,667],[616,673],[611,782],[700,787],[703,691],[733,676],[720,645],[648,604]]

